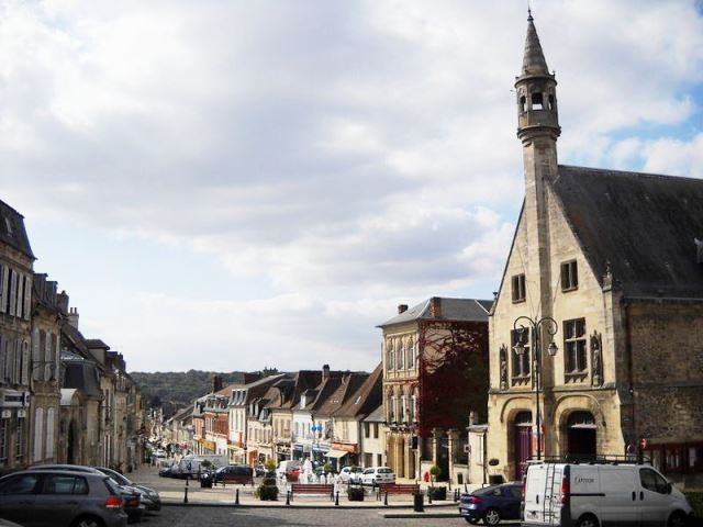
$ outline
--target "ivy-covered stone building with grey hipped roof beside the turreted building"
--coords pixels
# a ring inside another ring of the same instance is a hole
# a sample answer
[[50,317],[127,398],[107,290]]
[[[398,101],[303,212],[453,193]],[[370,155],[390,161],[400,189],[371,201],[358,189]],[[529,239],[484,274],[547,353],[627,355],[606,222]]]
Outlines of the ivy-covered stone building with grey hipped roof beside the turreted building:
[[436,464],[440,479],[458,480],[469,413],[486,414],[491,303],[434,296],[400,305],[379,326],[387,461],[399,478],[420,479]]

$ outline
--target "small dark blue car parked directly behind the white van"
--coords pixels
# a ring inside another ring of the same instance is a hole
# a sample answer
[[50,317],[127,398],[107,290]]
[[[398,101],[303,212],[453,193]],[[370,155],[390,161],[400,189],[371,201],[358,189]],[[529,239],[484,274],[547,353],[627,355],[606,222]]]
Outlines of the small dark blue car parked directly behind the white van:
[[520,483],[487,486],[461,494],[459,515],[469,524],[498,525],[502,519],[520,519]]

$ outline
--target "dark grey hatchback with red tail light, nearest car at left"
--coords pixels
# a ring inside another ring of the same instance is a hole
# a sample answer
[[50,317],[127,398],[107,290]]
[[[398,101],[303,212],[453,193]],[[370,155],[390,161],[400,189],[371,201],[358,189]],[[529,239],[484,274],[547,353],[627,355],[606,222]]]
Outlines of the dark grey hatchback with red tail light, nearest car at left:
[[23,470],[0,478],[0,516],[24,527],[125,527],[119,485],[101,472]]

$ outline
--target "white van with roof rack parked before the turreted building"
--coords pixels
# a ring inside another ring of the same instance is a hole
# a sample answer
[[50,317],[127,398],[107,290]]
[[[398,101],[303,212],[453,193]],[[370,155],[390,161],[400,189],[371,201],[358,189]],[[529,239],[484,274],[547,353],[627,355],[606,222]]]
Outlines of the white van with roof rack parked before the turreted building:
[[527,466],[523,526],[683,526],[693,509],[649,464],[635,462]]

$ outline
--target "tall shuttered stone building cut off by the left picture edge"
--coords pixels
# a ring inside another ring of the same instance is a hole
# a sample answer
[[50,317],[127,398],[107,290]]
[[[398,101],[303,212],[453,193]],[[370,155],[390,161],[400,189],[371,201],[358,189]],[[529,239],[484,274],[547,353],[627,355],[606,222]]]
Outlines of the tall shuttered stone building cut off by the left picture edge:
[[0,201],[0,471],[30,458],[33,262],[24,217]]

